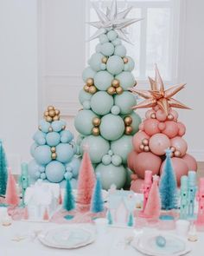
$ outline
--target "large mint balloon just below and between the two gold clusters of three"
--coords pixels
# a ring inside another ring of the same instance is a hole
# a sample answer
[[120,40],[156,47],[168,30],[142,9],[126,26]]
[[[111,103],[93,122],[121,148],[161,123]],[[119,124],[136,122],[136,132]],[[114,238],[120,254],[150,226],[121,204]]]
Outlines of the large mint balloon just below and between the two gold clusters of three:
[[98,115],[105,115],[111,111],[113,98],[105,91],[99,91],[92,95],[91,108]]

